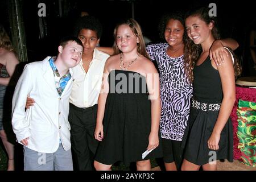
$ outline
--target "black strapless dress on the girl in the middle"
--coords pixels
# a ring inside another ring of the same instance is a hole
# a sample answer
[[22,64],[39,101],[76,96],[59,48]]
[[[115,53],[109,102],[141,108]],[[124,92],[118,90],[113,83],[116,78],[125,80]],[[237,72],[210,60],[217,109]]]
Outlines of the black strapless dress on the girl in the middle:
[[113,70],[109,73],[109,93],[104,114],[104,139],[96,152],[96,161],[125,165],[162,157],[162,145],[142,159],[151,130],[151,102],[146,78],[137,72]]

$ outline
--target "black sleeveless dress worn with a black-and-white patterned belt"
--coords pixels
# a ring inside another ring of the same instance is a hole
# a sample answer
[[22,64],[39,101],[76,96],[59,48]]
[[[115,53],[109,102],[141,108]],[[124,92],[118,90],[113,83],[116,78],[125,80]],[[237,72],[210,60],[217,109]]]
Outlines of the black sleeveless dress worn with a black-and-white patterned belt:
[[220,75],[212,67],[209,56],[201,65],[195,65],[193,76],[193,100],[207,104],[208,108],[198,109],[193,106],[192,101],[189,127],[185,132],[187,143],[184,159],[199,166],[218,159],[233,162],[233,129],[230,118],[221,132],[219,149],[212,151],[208,148],[207,142],[219,112],[218,109],[209,110],[209,104],[221,104],[223,97]]

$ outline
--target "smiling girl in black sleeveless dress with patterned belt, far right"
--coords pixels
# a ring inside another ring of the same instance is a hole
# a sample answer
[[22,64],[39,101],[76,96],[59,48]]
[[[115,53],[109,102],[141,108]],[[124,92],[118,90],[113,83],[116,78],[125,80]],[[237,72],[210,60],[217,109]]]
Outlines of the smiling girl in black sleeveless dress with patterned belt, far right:
[[193,98],[182,170],[198,170],[200,166],[216,170],[216,160],[233,161],[229,115],[236,100],[235,75],[239,67],[228,48],[224,63],[216,65],[210,60],[209,49],[219,36],[216,20],[208,12],[204,7],[193,10],[185,19],[191,40],[185,46],[184,60],[189,81],[193,81]]

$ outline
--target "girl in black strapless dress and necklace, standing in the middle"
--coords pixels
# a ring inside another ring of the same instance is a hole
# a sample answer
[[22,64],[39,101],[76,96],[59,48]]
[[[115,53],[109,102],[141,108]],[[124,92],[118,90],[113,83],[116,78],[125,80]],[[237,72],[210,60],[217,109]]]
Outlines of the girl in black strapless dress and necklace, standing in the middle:
[[[150,159],[162,157],[158,72],[134,19],[119,24],[114,32],[115,55],[106,61],[98,99],[94,136],[101,142],[94,167],[110,170],[122,161],[150,170]],[[152,151],[143,158],[146,150]]]

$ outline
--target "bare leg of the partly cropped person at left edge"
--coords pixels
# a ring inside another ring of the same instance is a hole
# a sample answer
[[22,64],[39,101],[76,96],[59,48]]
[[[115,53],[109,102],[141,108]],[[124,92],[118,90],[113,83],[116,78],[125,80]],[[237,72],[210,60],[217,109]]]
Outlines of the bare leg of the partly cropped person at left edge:
[[8,155],[8,168],[7,171],[14,171],[14,145],[8,142],[5,130],[0,130],[0,137],[5,146],[5,150]]

